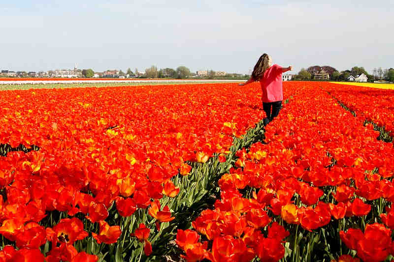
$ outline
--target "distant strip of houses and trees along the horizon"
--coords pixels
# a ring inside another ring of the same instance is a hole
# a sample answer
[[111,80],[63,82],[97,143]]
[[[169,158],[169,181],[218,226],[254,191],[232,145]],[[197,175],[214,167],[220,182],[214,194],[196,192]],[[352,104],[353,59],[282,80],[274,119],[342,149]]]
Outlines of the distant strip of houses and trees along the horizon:
[[[133,71],[128,68],[126,72],[122,70],[106,70],[95,72],[93,69],[79,69],[75,64],[73,69],[48,70],[39,72],[27,71],[10,71],[1,70],[0,77],[9,78],[171,78],[171,79],[234,79],[243,80],[250,78],[252,70],[248,74],[228,73],[225,71],[198,70],[191,72],[186,66],[173,68],[161,68],[156,66],[146,68],[145,71],[139,71],[135,68]],[[347,82],[375,82],[385,81],[394,82],[394,68],[382,69],[375,68],[373,74],[366,72],[364,67],[354,66],[349,70],[337,71],[334,67],[325,65],[314,65],[307,69],[302,68],[298,74],[282,74],[283,81],[291,80],[316,80],[316,81],[347,81]]]

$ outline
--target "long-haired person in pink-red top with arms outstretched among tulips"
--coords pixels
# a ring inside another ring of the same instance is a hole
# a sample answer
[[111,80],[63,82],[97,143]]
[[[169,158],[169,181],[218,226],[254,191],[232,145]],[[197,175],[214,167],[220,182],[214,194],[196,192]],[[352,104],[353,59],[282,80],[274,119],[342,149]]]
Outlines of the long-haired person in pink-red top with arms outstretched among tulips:
[[291,65],[286,68],[277,64],[272,65],[272,58],[267,54],[263,54],[257,61],[250,79],[245,83],[239,84],[240,86],[245,86],[252,82],[260,81],[263,90],[263,110],[267,115],[267,117],[263,119],[264,125],[278,116],[282,108],[282,73],[290,70],[293,70]]

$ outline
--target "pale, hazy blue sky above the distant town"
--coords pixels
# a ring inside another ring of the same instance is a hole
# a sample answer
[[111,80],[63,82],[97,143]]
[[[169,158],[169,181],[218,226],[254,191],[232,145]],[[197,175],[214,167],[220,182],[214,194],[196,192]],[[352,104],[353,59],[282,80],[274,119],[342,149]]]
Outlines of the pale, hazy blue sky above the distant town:
[[0,5],[0,70],[151,65],[247,73],[394,67],[394,1],[14,0]]

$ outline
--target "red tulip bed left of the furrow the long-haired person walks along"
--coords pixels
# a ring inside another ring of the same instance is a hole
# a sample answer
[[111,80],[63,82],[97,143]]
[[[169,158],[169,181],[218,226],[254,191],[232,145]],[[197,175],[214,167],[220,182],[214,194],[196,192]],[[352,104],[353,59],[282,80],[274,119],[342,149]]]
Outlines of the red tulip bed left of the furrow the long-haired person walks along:
[[263,118],[252,92],[257,84],[1,92],[0,143],[39,150],[0,157],[0,234],[11,245],[0,261],[154,254],[184,196],[192,206],[201,195],[203,167],[190,161],[226,162],[233,138]]

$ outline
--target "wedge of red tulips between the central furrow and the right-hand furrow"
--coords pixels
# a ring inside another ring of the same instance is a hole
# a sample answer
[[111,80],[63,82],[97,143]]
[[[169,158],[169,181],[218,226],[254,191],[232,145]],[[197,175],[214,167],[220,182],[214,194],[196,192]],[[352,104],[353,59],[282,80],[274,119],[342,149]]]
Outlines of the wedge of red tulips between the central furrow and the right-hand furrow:
[[[394,255],[394,148],[341,108],[322,83],[297,86],[237,152],[221,199],[178,230],[187,261],[384,261]],[[378,99],[377,99],[378,100]]]

